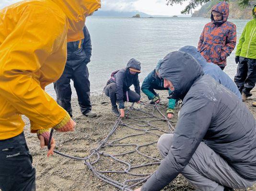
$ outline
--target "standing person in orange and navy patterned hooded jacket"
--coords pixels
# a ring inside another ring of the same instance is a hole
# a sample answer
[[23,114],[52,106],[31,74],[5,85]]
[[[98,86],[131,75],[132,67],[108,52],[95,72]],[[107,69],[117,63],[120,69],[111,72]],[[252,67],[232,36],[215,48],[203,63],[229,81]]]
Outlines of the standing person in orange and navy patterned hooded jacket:
[[220,2],[211,10],[211,22],[204,26],[199,38],[198,51],[208,63],[221,67],[227,65],[226,58],[232,53],[236,44],[236,26],[227,21],[229,4]]

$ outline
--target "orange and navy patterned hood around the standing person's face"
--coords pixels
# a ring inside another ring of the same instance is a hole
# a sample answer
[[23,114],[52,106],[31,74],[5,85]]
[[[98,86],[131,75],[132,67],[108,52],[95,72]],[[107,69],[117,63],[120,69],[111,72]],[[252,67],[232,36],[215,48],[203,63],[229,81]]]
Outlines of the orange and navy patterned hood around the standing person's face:
[[[223,16],[222,21],[214,21],[212,11],[217,11],[217,12],[222,13],[222,16]],[[217,5],[214,5],[212,7],[211,14],[210,14],[210,20],[213,23],[224,23],[224,22],[228,21],[228,17],[229,17],[229,4],[227,2],[220,2]]]

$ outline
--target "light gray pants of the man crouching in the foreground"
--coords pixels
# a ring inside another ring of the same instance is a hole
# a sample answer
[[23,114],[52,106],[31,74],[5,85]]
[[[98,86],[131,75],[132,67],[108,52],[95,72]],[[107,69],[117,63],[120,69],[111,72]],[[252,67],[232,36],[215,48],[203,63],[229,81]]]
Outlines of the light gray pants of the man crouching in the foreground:
[[[173,143],[172,134],[163,134],[157,148],[160,154],[167,156]],[[224,186],[233,189],[244,189],[255,182],[245,180],[235,172],[226,160],[201,142],[181,174],[197,191],[223,191]]]

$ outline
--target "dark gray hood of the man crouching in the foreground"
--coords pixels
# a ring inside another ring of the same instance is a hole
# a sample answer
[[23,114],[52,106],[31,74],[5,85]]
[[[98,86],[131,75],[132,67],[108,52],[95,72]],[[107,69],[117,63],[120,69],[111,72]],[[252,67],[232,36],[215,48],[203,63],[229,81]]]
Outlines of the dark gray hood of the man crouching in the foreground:
[[202,67],[188,53],[168,53],[162,61],[159,76],[172,82],[175,90],[172,98],[183,99],[190,87],[203,75]]

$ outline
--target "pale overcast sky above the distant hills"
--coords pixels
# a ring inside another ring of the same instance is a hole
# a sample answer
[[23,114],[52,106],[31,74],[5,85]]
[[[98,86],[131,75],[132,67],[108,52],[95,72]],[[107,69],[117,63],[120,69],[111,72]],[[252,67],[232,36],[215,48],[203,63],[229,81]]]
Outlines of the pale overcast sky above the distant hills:
[[[21,0],[0,0],[0,9]],[[150,15],[179,15],[183,5],[167,6],[166,0],[102,0],[103,11],[141,11]]]

